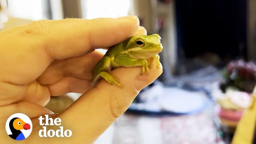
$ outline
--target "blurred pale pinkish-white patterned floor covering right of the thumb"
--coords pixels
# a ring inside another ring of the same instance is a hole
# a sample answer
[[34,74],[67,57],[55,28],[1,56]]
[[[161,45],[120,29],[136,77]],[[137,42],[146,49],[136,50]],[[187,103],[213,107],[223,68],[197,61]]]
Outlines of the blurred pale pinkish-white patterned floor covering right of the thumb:
[[206,113],[182,116],[124,114],[95,144],[216,144],[217,132]]

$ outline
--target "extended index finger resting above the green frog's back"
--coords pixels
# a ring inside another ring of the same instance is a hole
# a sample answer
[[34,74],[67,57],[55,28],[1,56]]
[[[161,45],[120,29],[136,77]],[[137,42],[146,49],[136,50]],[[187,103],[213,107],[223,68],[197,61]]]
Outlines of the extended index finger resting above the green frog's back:
[[118,19],[65,19],[56,23],[56,26],[52,24],[54,31],[49,34],[47,42],[47,50],[54,59],[66,59],[94,48],[113,46],[133,36],[139,26],[137,16]]

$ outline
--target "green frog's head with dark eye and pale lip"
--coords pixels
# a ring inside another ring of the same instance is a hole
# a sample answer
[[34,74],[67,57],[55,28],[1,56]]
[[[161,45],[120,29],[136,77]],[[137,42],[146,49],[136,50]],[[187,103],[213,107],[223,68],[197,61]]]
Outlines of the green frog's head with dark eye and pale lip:
[[148,59],[161,52],[163,46],[158,34],[131,37],[125,53],[135,59]]

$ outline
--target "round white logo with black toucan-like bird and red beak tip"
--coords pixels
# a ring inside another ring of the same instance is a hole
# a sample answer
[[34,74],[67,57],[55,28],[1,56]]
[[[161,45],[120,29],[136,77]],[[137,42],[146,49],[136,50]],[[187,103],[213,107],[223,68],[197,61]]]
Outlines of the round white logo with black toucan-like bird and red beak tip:
[[7,119],[5,129],[14,140],[24,140],[32,132],[32,122],[23,113],[15,113]]

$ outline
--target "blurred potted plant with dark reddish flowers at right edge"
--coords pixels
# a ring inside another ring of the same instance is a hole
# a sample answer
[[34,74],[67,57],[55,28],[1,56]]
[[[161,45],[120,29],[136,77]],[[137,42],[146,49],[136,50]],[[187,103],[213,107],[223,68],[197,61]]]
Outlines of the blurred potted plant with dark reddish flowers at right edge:
[[217,113],[222,123],[236,127],[243,112],[251,103],[250,93],[256,85],[256,64],[236,60],[222,71],[220,85],[223,96],[217,100]]

